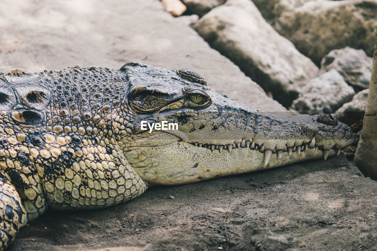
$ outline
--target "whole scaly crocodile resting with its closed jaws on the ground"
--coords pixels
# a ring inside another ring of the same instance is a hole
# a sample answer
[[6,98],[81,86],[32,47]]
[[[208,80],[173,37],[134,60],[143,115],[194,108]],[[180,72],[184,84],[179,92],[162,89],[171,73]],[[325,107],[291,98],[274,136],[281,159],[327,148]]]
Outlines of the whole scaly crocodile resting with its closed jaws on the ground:
[[[159,130],[166,121],[178,128]],[[11,70],[0,76],[0,124],[0,250],[47,208],[110,207],[153,185],[326,159],[352,141],[331,115],[271,115],[193,70],[141,63]]]

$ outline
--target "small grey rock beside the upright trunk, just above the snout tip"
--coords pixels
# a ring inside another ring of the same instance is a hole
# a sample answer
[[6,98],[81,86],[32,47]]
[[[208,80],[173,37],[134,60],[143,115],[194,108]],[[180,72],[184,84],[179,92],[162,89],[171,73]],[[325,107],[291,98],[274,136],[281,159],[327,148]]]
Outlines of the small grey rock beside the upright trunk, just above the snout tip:
[[353,124],[356,121],[359,121],[364,118],[366,99],[368,98],[369,89],[362,90],[357,93],[352,101],[349,103],[343,104],[333,116],[339,121],[346,123],[348,125]]

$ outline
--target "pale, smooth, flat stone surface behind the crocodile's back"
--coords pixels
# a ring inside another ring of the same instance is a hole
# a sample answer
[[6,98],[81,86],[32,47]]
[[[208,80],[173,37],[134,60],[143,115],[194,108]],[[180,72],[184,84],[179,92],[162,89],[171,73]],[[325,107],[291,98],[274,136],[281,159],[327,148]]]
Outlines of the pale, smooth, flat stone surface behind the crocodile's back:
[[190,68],[208,86],[240,103],[266,112],[287,111],[162,8],[158,0],[7,2],[0,9],[0,72],[60,70],[77,64],[119,69],[129,61]]

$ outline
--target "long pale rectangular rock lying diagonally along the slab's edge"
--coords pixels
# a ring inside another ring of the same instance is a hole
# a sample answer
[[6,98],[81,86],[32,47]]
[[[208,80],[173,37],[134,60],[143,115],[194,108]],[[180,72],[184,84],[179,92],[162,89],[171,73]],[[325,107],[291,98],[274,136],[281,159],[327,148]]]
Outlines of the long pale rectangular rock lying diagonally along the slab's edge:
[[283,106],[297,98],[318,68],[268,24],[253,2],[228,0],[193,28]]

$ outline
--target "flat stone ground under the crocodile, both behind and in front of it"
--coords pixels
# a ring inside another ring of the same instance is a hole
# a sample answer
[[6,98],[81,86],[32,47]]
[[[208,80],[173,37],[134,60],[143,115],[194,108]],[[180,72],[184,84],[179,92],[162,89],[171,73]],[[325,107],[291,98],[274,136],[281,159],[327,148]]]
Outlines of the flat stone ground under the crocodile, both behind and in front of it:
[[[0,29],[2,72],[127,61],[192,68],[241,103],[286,111],[158,0],[4,0]],[[153,187],[104,210],[48,211],[11,250],[377,250],[376,196],[377,182],[338,156]]]

